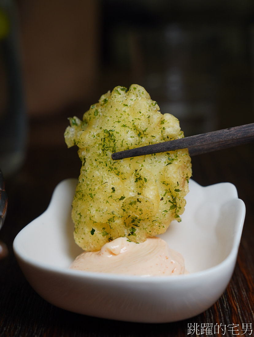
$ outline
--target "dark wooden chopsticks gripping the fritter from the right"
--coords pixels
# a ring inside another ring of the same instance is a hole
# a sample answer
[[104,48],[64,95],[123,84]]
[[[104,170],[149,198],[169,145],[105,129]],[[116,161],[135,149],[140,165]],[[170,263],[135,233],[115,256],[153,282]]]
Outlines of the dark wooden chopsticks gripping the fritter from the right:
[[146,154],[189,149],[191,156],[250,143],[254,140],[254,123],[197,134],[163,143],[142,146],[112,153],[112,159],[137,157]]

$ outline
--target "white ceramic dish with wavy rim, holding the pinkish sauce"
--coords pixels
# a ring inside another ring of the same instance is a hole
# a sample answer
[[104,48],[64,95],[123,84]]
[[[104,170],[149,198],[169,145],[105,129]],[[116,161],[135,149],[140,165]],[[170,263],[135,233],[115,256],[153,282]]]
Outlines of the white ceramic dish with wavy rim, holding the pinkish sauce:
[[220,298],[234,270],[245,217],[234,185],[190,181],[182,221],[161,237],[184,255],[191,274],[143,278],[68,269],[81,252],[70,218],[76,183],[58,184],[46,212],[13,243],[24,275],[46,301],[90,316],[162,323],[195,316]]

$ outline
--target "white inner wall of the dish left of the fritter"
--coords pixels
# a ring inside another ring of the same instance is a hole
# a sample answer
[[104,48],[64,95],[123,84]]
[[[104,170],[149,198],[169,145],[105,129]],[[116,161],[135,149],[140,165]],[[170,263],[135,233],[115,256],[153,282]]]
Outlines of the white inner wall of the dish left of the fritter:
[[44,266],[68,268],[82,252],[74,242],[70,215],[76,185],[76,179],[58,184],[48,209],[18,234],[14,243],[23,258]]

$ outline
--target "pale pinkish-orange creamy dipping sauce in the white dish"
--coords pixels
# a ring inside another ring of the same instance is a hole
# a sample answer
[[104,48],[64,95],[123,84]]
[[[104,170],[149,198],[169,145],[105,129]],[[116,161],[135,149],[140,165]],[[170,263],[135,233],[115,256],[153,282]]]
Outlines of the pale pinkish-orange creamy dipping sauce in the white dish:
[[117,238],[102,246],[100,251],[84,252],[76,257],[71,269],[111,274],[169,276],[188,273],[184,258],[158,238],[135,243]]

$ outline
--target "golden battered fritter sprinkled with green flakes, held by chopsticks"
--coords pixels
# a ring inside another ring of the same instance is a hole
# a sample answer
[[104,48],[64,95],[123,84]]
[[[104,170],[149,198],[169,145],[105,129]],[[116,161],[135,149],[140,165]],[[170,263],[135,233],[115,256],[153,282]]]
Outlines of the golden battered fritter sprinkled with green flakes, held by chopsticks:
[[82,161],[74,238],[84,250],[99,250],[118,237],[143,242],[180,221],[192,173],[187,149],[111,159],[113,152],[184,136],[179,121],[159,109],[141,86],[119,86],[91,105],[82,121],[69,119],[65,142],[78,146]]

